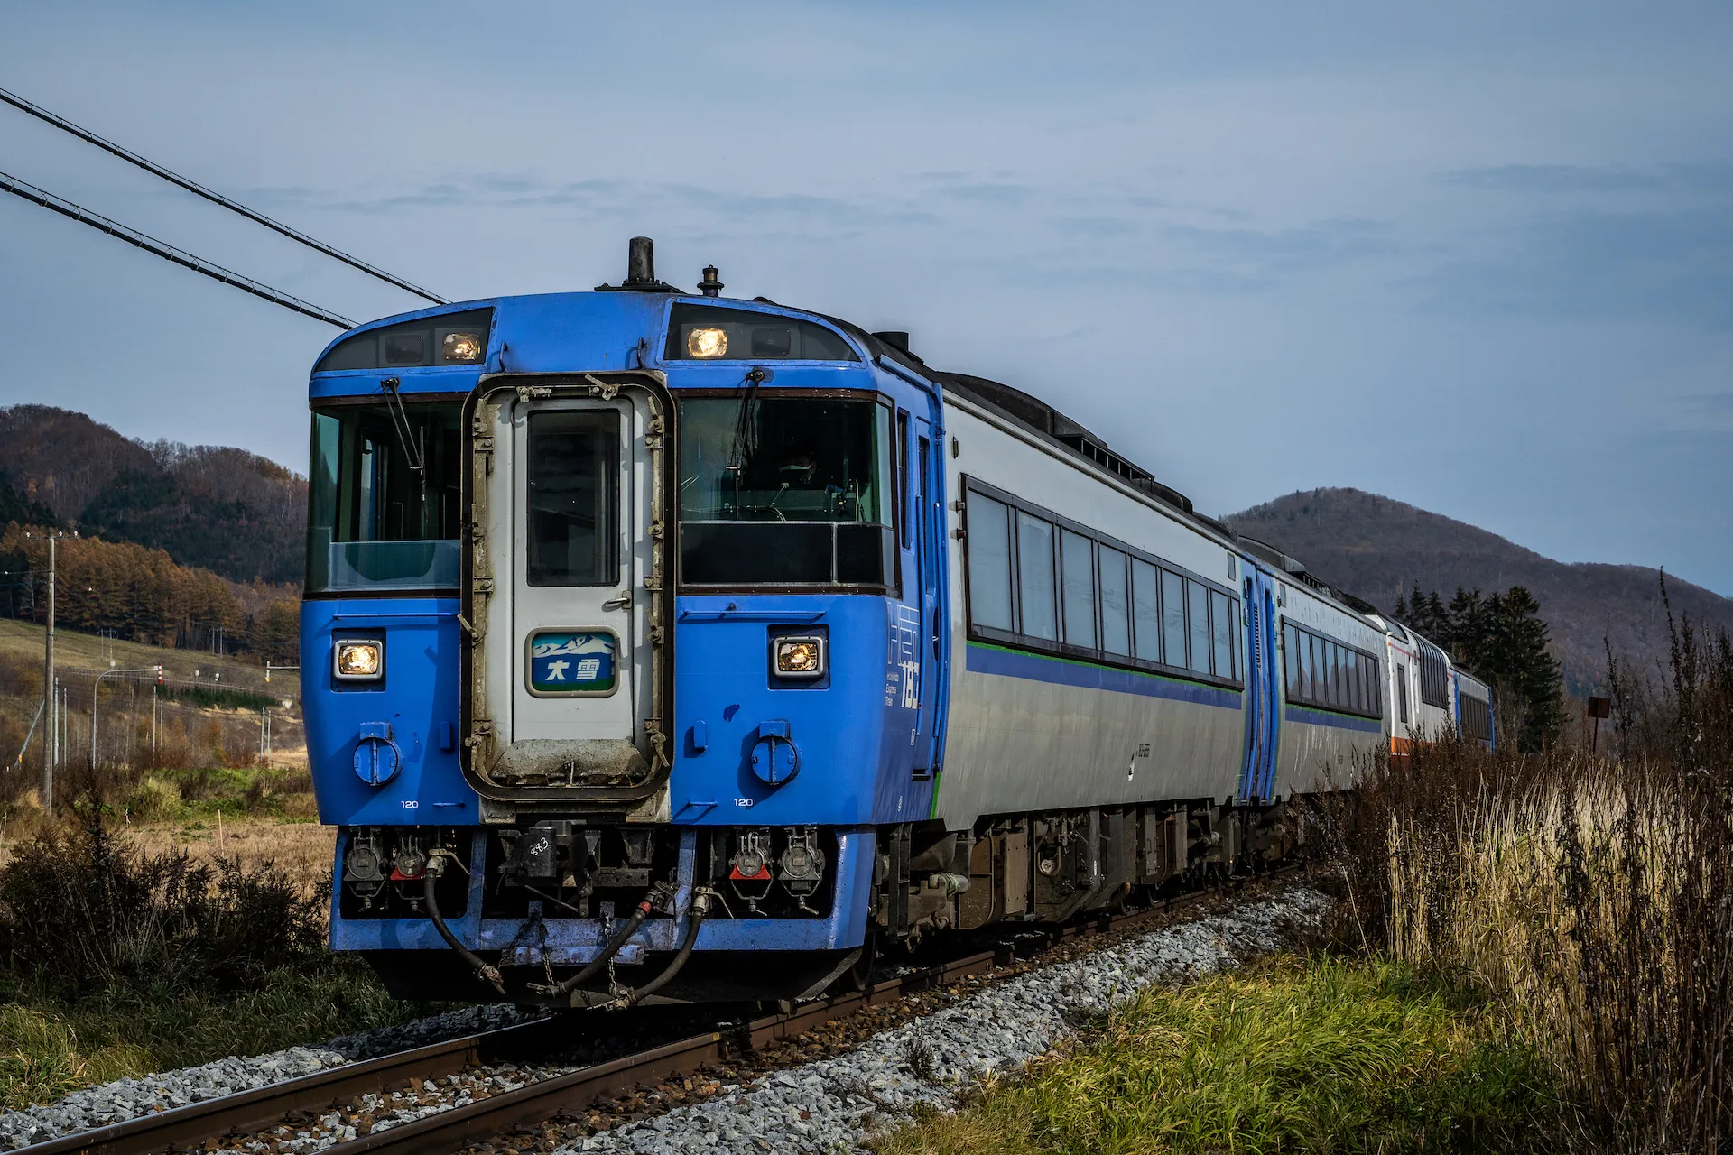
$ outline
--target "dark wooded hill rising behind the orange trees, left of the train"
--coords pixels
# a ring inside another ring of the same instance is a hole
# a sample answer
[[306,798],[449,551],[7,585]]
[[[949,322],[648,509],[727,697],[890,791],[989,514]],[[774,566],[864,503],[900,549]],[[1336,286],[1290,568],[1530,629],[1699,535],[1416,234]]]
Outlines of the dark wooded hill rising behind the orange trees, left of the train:
[[50,405],[0,409],[3,519],[163,549],[236,582],[302,580],[307,480],[239,448],[133,442]]

